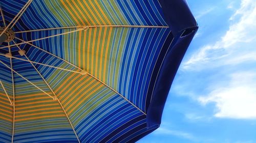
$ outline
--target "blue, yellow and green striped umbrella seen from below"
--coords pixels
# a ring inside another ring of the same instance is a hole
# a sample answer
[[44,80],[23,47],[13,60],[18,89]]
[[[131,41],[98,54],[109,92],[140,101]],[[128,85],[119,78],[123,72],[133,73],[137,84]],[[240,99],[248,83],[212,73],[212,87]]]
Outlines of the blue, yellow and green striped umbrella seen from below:
[[197,23],[183,0],[1,0],[0,142],[156,130]]

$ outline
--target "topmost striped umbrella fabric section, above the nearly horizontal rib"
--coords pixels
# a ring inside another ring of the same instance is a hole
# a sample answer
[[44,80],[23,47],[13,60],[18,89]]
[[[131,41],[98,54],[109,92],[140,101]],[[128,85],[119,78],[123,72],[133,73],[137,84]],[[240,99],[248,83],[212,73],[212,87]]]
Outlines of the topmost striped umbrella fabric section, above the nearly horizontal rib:
[[[4,0],[3,10],[12,19],[23,7],[17,0]],[[18,5],[12,5],[19,3]],[[8,5],[6,7],[6,5]],[[7,8],[15,8],[10,11]],[[166,25],[158,1],[33,1],[19,30],[76,25]]]

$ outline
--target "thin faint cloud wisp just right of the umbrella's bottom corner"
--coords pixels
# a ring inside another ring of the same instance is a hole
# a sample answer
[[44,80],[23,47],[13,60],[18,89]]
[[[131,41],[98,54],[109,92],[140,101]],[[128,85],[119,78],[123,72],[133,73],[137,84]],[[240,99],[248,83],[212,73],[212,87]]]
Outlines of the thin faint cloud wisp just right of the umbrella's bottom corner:
[[176,130],[169,130],[165,128],[158,128],[154,134],[161,134],[161,135],[174,135],[181,138],[189,139],[189,140],[196,140],[196,137],[190,133],[186,133],[183,131],[176,131]]

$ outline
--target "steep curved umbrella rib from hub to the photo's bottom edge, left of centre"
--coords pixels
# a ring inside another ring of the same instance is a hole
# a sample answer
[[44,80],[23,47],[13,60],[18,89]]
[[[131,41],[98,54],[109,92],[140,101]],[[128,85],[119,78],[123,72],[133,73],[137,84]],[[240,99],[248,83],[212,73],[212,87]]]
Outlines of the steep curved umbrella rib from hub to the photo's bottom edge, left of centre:
[[[13,41],[13,42],[15,43],[15,41]],[[18,47],[19,50],[22,50],[19,46],[17,46],[17,47]],[[28,59],[28,61],[30,61],[29,58],[28,58],[28,56],[27,56],[26,54],[24,54],[24,56]],[[67,119],[68,119],[68,121],[69,121],[69,124],[71,125],[71,127],[72,127],[72,129],[73,129],[73,131],[74,131],[74,133],[75,133],[75,135],[76,135],[76,137],[77,137],[78,142],[80,143],[80,140],[79,140],[79,138],[78,138],[78,136],[77,136],[77,134],[76,134],[76,131],[75,131],[75,129],[74,129],[74,126],[72,125],[72,123],[71,123],[71,121],[70,121],[70,119],[69,119],[69,116],[68,116],[66,110],[63,108],[63,106],[62,106],[62,104],[60,103],[59,99],[57,98],[55,92],[53,91],[53,89],[50,87],[49,83],[48,83],[48,82],[46,81],[46,79],[41,75],[41,73],[37,70],[37,68],[33,65],[33,63],[32,63],[31,61],[30,61],[30,64],[34,67],[34,69],[36,70],[36,72],[41,76],[42,80],[45,81],[45,83],[47,84],[48,88],[52,91],[55,100],[57,100],[58,103],[60,104],[60,106],[61,106],[63,112],[65,113],[65,115],[66,115],[66,117],[67,117]]]

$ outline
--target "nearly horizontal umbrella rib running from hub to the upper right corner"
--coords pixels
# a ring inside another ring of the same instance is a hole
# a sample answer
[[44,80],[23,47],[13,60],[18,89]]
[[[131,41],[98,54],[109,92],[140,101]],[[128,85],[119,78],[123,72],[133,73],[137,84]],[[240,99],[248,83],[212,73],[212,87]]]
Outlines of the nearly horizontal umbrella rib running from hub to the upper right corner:
[[[54,27],[54,28],[44,28],[38,30],[28,30],[28,31],[19,31],[16,33],[26,33],[26,32],[38,32],[38,31],[49,31],[49,30],[59,30],[67,28],[79,28],[83,26],[69,26],[69,27]],[[88,25],[89,28],[92,27],[129,27],[129,28],[168,28],[169,26],[156,26],[156,25]]]

